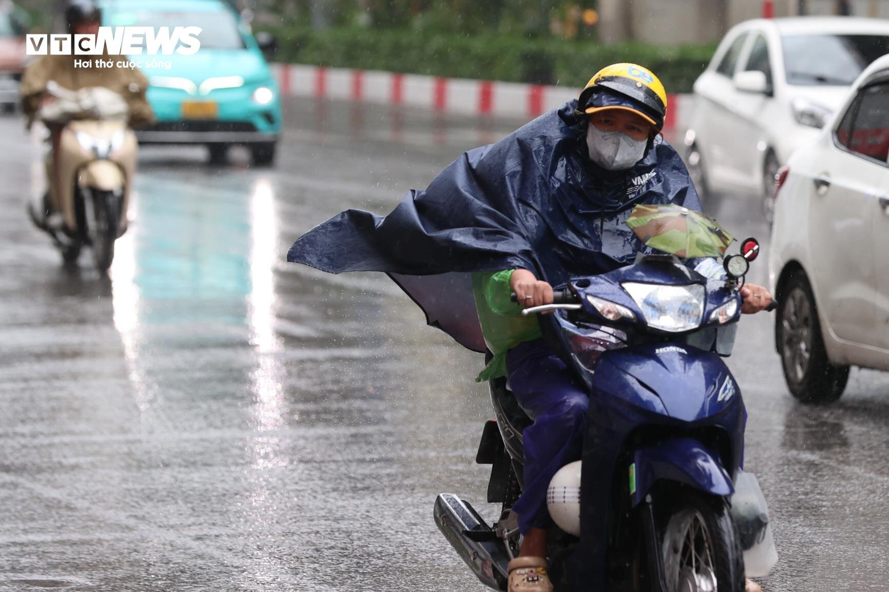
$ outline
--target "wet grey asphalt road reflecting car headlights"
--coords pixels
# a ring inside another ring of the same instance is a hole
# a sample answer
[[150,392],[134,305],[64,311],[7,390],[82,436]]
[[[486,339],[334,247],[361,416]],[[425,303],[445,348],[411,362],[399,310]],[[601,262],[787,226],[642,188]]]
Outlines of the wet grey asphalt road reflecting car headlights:
[[[497,514],[473,463],[480,356],[382,275],[283,258],[520,122],[313,101],[288,119],[270,170],[144,149],[110,279],[29,225],[38,150],[0,120],[0,589],[485,589],[432,520],[440,492]],[[751,201],[709,207],[767,242]],[[781,555],[764,588],[885,591],[889,375],[799,405],[772,322],[746,318],[730,360]]]

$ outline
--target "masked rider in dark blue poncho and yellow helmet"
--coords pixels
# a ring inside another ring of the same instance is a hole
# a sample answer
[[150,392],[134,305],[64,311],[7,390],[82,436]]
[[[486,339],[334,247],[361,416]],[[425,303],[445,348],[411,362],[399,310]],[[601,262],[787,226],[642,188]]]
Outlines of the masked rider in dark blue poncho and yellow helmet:
[[[609,272],[652,252],[626,225],[637,204],[701,209],[677,152],[661,138],[667,94],[653,73],[614,64],[578,100],[497,144],[463,154],[387,217],[348,210],[296,241],[288,259],[326,272],[382,271],[444,329],[493,359],[479,375],[507,375],[533,420],[523,432],[525,487],[513,506],[524,535],[509,563],[510,592],[549,592],[546,492],[581,458],[586,391],[541,341],[522,307],[553,302],[553,285]],[[703,274],[721,266],[693,262]],[[743,312],[764,310],[760,286],[741,289]],[[757,589],[753,582],[749,590]]]

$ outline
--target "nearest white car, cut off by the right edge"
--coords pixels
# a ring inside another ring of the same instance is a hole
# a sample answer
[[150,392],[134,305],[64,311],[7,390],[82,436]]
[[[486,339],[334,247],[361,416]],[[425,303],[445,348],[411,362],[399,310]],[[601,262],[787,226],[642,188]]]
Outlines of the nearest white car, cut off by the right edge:
[[790,392],[837,399],[850,366],[889,370],[889,56],[778,175],[769,276]]

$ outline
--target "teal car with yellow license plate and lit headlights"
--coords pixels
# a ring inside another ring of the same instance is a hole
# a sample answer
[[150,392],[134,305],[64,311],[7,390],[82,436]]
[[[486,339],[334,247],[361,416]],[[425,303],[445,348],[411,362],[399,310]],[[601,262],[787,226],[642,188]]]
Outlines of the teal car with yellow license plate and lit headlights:
[[262,51],[274,40],[260,36],[223,0],[106,0],[103,24],[110,27],[203,29],[193,55],[140,55],[148,76],[148,102],[156,123],[137,130],[140,144],[204,144],[212,161],[228,146],[250,149],[254,164],[275,160],[281,131],[281,99]]

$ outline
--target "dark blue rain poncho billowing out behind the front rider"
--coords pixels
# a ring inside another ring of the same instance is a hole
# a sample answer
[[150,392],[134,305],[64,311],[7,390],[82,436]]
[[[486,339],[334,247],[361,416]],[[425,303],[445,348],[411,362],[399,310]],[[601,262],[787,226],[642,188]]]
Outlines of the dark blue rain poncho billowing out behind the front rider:
[[652,252],[625,224],[637,203],[701,209],[662,138],[629,170],[589,160],[588,115],[569,101],[496,144],[461,154],[388,216],[348,209],[293,243],[287,260],[324,272],[387,272],[429,325],[485,351],[471,272],[525,268],[553,286]]

